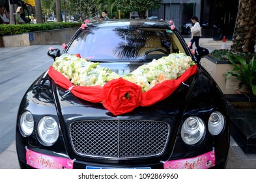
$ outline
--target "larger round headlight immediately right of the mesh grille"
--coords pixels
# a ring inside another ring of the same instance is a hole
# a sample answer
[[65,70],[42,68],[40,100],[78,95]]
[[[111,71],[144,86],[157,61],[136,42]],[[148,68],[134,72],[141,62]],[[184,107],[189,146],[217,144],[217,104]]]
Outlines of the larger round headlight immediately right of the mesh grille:
[[196,144],[205,133],[205,125],[201,118],[190,116],[185,120],[181,128],[182,140],[189,145]]

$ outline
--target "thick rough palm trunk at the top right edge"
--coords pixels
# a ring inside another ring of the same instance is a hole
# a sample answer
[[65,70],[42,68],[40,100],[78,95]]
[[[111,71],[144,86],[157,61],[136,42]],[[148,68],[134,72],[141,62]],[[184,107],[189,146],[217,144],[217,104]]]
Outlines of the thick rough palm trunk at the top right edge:
[[256,44],[256,1],[240,0],[231,51],[254,53]]

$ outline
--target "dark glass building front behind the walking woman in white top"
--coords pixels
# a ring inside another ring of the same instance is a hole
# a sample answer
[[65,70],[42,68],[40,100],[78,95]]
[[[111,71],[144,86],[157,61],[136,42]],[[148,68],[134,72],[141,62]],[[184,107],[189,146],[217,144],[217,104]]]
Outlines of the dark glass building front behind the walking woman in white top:
[[204,37],[232,38],[239,0],[163,0],[160,8],[149,10],[149,17],[175,22],[182,34],[190,34],[192,16],[199,18]]

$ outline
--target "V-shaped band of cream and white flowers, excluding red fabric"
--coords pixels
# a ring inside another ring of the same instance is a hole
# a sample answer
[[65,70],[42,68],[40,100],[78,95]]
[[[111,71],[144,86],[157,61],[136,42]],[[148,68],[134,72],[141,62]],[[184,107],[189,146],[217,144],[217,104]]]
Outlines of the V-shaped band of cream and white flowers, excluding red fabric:
[[[172,53],[161,59],[154,59],[149,64],[139,66],[134,72],[123,75],[122,78],[141,86],[142,92],[147,92],[158,83],[165,80],[177,79],[195,63],[184,53]],[[121,75],[75,55],[57,57],[53,68],[62,73],[71,83],[79,86],[104,86],[112,79]]]

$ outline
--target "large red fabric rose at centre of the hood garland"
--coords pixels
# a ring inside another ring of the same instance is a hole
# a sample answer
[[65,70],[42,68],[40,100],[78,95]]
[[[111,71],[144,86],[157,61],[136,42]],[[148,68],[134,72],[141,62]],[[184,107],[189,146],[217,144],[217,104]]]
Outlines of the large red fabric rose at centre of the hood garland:
[[104,85],[102,105],[115,116],[132,112],[141,104],[141,86],[122,78],[114,79]]

